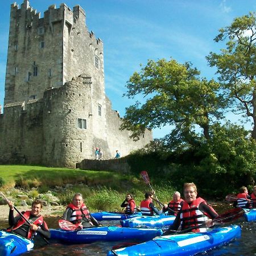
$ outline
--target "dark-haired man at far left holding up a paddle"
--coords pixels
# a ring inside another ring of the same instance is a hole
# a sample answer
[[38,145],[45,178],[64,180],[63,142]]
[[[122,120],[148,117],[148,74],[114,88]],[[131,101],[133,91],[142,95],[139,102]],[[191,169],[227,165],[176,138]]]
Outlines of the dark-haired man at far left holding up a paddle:
[[31,210],[26,210],[26,212],[21,212],[28,221],[31,222],[30,225],[24,220],[19,214],[14,217],[14,205],[13,201],[8,202],[9,211],[9,225],[7,232],[14,232],[22,237],[33,238],[36,233],[41,234],[45,238],[50,238],[51,233],[48,230],[46,222],[43,220],[40,211],[43,207],[42,202],[36,199],[32,203]]

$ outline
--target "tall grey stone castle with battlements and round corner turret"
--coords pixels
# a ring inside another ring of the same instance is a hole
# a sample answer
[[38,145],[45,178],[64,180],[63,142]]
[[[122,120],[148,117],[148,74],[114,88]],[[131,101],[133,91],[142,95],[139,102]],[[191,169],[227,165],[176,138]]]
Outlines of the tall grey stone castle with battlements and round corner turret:
[[152,140],[119,130],[122,118],[105,94],[100,38],[88,31],[85,11],[64,3],[40,18],[24,0],[11,5],[0,163],[75,168],[93,159],[122,156]]

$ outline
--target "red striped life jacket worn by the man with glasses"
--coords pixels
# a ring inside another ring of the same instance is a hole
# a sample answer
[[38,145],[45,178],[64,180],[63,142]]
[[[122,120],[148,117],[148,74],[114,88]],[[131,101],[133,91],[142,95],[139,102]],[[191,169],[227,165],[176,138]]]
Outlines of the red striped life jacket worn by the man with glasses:
[[[199,205],[201,203],[207,204],[206,201],[201,197],[198,197],[190,205],[187,203],[187,201],[184,201],[183,206],[181,208],[181,214],[180,214],[181,230],[190,228],[191,226],[198,226],[200,224],[203,224],[206,220],[208,220],[210,216],[206,212],[201,212],[201,210],[199,210]],[[213,210],[214,213],[216,213],[212,207],[210,208]],[[200,229],[193,230],[193,232],[200,232],[200,231],[203,231],[203,230],[200,230]]]

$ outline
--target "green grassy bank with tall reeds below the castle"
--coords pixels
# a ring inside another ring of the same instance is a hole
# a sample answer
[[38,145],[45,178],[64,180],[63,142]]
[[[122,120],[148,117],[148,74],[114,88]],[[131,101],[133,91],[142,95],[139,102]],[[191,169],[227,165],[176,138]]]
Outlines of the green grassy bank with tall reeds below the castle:
[[[142,179],[113,171],[2,165],[0,176],[5,180],[5,189],[18,184],[23,188],[36,187],[40,193],[51,190],[56,185],[63,187],[65,184],[76,184],[65,189],[63,193],[57,193],[61,203],[67,204],[75,192],[80,192],[92,210],[121,210],[120,205],[128,192],[133,193],[139,204],[144,199],[144,192],[150,190]],[[163,184],[154,185],[154,189],[159,200],[164,203],[170,200],[170,195],[175,190]]]

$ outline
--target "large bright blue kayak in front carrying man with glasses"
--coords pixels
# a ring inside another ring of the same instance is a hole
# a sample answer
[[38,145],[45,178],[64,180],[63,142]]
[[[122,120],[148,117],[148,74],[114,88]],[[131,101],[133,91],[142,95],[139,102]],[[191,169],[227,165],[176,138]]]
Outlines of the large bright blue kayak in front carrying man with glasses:
[[186,233],[156,237],[151,241],[108,252],[109,255],[195,255],[222,246],[241,236],[241,228],[230,225],[225,228],[214,228],[209,232]]

